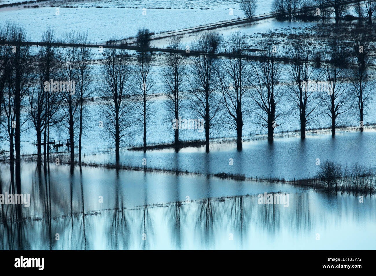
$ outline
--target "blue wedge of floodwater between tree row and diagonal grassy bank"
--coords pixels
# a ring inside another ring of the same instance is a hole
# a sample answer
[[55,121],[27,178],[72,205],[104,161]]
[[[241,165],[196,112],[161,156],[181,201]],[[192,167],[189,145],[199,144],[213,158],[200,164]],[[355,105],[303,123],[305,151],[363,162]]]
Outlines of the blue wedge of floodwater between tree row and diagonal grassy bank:
[[[233,173],[258,178],[285,180],[314,177],[320,162],[335,161],[342,164],[356,162],[365,166],[376,164],[374,145],[376,132],[360,133],[338,131],[331,134],[243,142],[243,150],[237,151],[236,143],[211,144],[210,152],[201,148],[184,148],[179,153],[169,150],[123,151],[120,163],[129,166],[180,170],[200,173]],[[56,154],[56,157],[59,157]],[[232,160],[230,160],[230,158]],[[115,163],[115,154],[89,155],[82,159],[87,163]],[[232,165],[230,164],[232,163]]]

